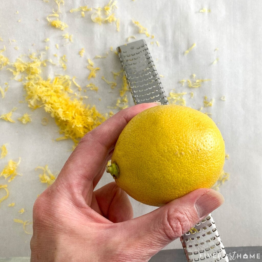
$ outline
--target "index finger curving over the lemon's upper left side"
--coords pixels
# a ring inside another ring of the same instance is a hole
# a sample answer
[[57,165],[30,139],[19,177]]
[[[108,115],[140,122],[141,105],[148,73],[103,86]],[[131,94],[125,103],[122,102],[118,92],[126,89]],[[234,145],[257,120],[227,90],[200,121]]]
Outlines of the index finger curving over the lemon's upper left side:
[[141,111],[157,105],[159,103],[144,103],[123,109],[88,132],[69,156],[57,180],[77,184],[78,190],[83,192],[95,179],[94,188],[125,125]]

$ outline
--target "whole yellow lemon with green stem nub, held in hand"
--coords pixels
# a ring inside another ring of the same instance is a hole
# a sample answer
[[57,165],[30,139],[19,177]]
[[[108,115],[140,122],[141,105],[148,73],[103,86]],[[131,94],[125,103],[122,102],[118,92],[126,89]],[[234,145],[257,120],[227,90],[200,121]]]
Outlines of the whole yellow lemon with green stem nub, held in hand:
[[185,106],[151,107],[121,132],[107,172],[132,198],[161,206],[218,180],[225,143],[206,114]]

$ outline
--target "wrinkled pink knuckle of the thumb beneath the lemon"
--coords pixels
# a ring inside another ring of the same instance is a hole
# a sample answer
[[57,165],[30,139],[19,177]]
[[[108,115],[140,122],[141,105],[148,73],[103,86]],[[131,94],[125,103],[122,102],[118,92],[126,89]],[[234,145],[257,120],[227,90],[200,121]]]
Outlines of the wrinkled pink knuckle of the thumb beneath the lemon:
[[166,216],[166,236],[174,240],[181,237],[192,227],[193,221],[188,210],[168,210]]

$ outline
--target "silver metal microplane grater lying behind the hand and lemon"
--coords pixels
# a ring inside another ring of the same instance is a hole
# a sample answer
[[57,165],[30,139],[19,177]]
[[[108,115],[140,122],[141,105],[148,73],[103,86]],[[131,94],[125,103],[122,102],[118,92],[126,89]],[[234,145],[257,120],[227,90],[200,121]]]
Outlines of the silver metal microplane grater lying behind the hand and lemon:
[[[167,97],[159,74],[145,40],[138,40],[117,48],[127,83],[135,104],[161,102],[167,105]],[[209,214],[185,233],[182,243],[188,262],[228,262],[215,222]]]

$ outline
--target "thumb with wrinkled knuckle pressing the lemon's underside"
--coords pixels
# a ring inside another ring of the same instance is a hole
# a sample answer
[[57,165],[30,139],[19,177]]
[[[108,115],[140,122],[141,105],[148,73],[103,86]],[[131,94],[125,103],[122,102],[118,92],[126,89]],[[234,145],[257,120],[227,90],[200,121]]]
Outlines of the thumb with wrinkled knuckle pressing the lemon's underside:
[[149,214],[123,222],[129,223],[124,225],[125,230],[129,228],[129,246],[136,249],[135,253],[144,254],[144,259],[149,259],[223,202],[223,196],[215,190],[196,189]]

